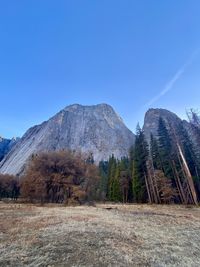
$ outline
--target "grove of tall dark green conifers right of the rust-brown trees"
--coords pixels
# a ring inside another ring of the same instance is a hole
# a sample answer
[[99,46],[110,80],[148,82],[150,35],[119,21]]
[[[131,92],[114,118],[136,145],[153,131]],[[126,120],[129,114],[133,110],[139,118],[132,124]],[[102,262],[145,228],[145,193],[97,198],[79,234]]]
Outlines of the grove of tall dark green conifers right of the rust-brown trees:
[[[200,119],[188,113],[191,134],[159,118],[147,142],[137,126],[129,157],[99,164],[102,198],[124,203],[198,204],[200,199]],[[192,139],[191,140],[191,136]],[[194,145],[195,139],[195,145]]]

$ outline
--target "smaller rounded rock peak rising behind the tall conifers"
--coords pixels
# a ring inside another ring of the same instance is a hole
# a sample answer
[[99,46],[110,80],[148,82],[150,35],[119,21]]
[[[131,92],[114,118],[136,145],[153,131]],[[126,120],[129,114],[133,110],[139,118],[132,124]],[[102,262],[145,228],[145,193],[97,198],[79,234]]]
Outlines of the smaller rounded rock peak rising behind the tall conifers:
[[146,112],[143,126],[144,134],[148,142],[150,141],[151,133],[157,136],[160,117],[165,121],[166,127],[171,125],[175,132],[177,132],[178,127],[182,124],[182,120],[173,112],[166,109],[149,109]]

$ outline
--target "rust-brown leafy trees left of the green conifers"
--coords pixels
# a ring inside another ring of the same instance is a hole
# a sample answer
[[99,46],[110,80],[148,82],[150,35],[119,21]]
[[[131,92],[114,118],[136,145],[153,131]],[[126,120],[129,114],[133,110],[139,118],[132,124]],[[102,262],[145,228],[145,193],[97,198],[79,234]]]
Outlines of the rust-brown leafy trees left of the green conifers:
[[[98,197],[99,170],[74,151],[32,155],[25,175],[0,175],[1,198],[40,203],[83,203]],[[17,188],[17,191],[16,189]]]

